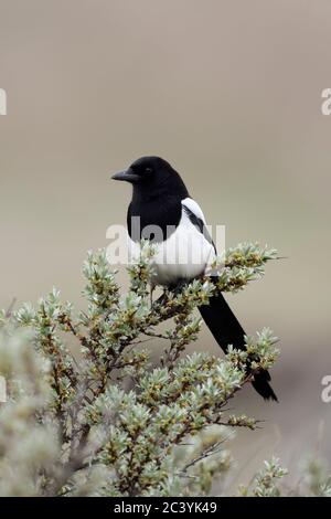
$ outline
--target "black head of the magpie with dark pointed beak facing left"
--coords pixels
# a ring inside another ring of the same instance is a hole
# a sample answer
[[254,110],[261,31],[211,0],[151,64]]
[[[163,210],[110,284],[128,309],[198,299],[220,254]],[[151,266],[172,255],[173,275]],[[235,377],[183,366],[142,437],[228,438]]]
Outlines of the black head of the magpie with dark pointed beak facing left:
[[160,157],[141,157],[135,160],[128,169],[113,174],[111,178],[130,182],[134,191],[141,194],[173,192],[182,195],[183,191],[186,193],[179,173]]

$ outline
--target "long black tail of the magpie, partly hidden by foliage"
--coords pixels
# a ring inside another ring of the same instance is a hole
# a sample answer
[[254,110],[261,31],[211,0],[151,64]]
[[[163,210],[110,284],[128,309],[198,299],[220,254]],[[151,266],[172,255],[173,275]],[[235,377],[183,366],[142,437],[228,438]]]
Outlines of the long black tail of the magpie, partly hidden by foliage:
[[[245,348],[245,332],[222,294],[213,296],[210,304],[200,306],[199,310],[223,351],[226,352],[228,345],[241,350]],[[268,371],[260,371],[254,379],[253,386],[265,400],[278,402],[269,384]]]

